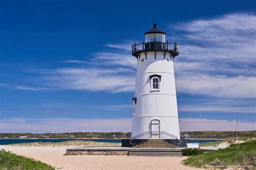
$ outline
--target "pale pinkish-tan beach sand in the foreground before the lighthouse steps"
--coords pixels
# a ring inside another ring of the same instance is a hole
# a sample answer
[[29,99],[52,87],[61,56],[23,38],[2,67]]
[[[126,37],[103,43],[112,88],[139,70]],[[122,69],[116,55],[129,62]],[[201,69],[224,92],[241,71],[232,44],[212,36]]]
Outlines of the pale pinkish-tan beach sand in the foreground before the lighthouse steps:
[[187,157],[129,157],[127,155],[64,155],[66,147],[8,146],[6,151],[40,160],[56,169],[198,169],[184,166]]

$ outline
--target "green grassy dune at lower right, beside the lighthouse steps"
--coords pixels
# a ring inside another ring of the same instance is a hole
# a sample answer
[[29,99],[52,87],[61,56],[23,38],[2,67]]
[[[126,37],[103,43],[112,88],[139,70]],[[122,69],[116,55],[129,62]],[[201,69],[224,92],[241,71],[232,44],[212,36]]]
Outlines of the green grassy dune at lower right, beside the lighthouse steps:
[[240,168],[255,167],[256,140],[242,144],[232,144],[218,151],[194,155],[183,160],[183,164],[194,167]]

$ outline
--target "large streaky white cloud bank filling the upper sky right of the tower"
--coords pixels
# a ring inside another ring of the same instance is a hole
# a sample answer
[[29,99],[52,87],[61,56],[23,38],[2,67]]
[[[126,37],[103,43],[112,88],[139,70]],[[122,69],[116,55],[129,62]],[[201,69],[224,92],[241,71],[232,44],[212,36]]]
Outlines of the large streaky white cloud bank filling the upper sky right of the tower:
[[173,25],[179,31],[177,91],[255,98],[256,16],[232,13]]

